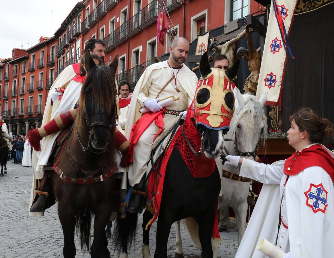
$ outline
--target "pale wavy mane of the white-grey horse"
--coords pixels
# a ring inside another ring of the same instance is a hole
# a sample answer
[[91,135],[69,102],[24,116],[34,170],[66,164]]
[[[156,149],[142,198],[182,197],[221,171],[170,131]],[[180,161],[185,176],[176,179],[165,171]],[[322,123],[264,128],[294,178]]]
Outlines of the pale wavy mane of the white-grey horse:
[[246,119],[247,126],[249,130],[248,132],[259,132],[261,129],[261,122],[264,123],[263,128],[263,145],[266,146],[267,139],[267,115],[266,110],[263,105],[261,105],[259,99],[251,93],[244,94],[245,102],[242,106],[239,105],[236,113],[234,113],[231,123],[229,133],[234,136],[236,126],[241,117]]

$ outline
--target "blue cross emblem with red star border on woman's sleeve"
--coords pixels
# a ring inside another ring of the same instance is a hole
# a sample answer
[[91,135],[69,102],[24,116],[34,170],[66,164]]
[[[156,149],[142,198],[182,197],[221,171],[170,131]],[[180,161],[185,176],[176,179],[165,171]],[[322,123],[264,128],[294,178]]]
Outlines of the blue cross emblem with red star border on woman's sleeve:
[[325,213],[328,206],[327,194],[322,184],[310,184],[310,188],[304,192],[306,196],[306,205],[312,208],[314,213],[320,211]]

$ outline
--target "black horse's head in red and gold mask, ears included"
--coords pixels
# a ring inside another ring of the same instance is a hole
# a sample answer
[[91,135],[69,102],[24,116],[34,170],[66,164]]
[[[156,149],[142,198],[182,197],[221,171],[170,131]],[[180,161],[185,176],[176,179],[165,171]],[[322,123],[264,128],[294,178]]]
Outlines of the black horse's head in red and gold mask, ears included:
[[202,134],[205,156],[217,158],[224,146],[223,135],[229,130],[234,113],[234,78],[239,61],[226,72],[219,68],[210,68],[208,56],[202,55],[199,70],[202,74],[198,81],[194,99],[194,118],[197,130]]

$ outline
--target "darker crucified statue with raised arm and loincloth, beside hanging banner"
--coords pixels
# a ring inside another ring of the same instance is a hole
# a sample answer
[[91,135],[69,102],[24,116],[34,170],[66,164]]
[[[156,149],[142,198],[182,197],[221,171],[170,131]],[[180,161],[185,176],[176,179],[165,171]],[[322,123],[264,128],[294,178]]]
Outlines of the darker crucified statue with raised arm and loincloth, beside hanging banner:
[[261,67],[261,56],[260,51],[256,50],[253,45],[252,36],[247,26],[247,20],[245,20],[244,25],[246,29],[245,32],[248,41],[248,49],[240,47],[238,48],[236,54],[242,59],[248,61],[249,71],[251,72],[251,74],[245,80],[245,85],[243,87],[244,93],[251,92],[252,94],[256,95]]

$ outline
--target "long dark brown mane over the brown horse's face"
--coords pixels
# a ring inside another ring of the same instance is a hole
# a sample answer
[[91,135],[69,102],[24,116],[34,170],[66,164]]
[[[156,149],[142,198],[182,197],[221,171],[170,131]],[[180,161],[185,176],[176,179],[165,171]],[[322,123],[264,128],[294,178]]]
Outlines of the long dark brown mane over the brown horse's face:
[[94,99],[92,111],[112,115],[116,109],[117,91],[111,68],[107,65],[100,65],[89,70],[81,89],[79,102],[81,110],[83,110],[85,90],[88,86],[92,86],[92,99]]

